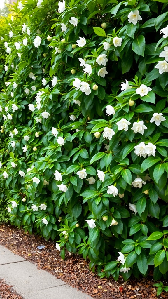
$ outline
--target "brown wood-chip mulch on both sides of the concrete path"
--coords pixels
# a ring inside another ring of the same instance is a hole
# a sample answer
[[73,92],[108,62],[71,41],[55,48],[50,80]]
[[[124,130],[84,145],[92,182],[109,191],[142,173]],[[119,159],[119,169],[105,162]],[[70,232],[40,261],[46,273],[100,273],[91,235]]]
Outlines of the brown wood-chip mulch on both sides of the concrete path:
[[[120,276],[117,282],[112,277],[100,279],[96,273],[92,273],[89,270],[89,261],[85,261],[78,254],[74,255],[68,252],[65,260],[62,260],[59,251],[55,247],[55,242],[46,241],[43,237],[34,234],[25,234],[22,228],[19,230],[12,225],[1,224],[0,245],[95,299],[157,299],[156,289],[152,287],[154,284],[152,278],[141,277],[139,280],[134,278],[126,282],[122,276]],[[45,245],[45,248],[39,250],[37,248],[39,245]],[[0,280],[0,283],[4,288],[1,294],[0,284],[0,296],[2,299],[22,299],[16,293],[13,293],[13,296],[17,297],[12,297],[10,286],[5,285],[2,280]],[[9,294],[9,297],[3,295],[5,292],[5,295]],[[168,299],[168,295],[163,292],[158,298]]]

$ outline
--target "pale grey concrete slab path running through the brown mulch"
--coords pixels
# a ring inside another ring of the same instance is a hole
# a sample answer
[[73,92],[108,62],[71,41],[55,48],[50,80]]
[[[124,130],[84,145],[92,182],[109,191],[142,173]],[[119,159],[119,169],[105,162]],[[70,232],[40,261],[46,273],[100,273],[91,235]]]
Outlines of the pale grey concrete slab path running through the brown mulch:
[[1,245],[0,278],[24,299],[92,299]]

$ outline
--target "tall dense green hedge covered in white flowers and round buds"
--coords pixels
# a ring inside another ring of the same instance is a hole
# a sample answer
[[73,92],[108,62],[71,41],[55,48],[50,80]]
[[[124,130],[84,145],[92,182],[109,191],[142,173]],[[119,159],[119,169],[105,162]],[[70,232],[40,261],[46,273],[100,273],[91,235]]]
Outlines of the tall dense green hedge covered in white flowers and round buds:
[[167,20],[167,0],[23,0],[1,26],[11,223],[100,277],[167,276]]

